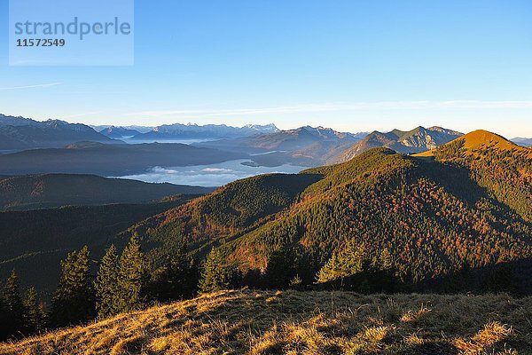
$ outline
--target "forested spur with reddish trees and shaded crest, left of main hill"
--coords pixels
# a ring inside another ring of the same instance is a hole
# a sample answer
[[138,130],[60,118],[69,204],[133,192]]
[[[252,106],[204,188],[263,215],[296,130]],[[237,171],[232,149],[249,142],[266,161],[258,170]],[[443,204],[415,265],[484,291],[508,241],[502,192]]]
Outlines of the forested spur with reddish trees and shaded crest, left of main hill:
[[184,238],[191,248],[205,254],[220,240],[270,220],[319,178],[314,174],[249,177],[143,221],[130,228],[130,232],[155,242],[154,246],[163,253],[169,244]]

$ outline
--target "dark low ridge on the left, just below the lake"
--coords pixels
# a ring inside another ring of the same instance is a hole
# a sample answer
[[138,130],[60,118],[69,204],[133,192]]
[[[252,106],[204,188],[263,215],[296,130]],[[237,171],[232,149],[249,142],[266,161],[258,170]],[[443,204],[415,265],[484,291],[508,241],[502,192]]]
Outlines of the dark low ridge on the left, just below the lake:
[[206,187],[148,184],[95,175],[0,177],[0,210],[146,203],[177,194],[203,194],[212,190]]

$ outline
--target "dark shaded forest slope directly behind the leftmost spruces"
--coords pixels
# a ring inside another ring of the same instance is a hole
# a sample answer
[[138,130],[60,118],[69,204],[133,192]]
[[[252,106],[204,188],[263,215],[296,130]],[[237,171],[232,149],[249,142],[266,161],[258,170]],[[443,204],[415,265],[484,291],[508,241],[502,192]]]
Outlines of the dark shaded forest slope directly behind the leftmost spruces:
[[[192,195],[191,195],[192,196]],[[172,209],[191,197],[147,204],[113,204],[0,212],[0,280],[16,270],[24,288],[35,287],[48,299],[59,279],[59,261],[89,246],[99,258],[115,235],[140,220]]]

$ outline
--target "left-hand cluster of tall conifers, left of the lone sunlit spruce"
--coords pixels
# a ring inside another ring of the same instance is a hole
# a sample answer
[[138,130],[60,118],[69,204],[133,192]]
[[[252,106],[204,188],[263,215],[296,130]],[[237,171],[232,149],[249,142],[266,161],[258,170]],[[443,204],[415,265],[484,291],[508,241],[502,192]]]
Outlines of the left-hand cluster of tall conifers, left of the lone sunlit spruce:
[[121,255],[113,245],[108,248],[96,274],[91,272],[93,263],[87,247],[61,261],[59,284],[48,309],[37,301],[34,288],[20,296],[19,278],[13,271],[0,300],[0,340],[104,319],[197,293],[198,266],[187,256],[185,244],[155,271],[136,235]]

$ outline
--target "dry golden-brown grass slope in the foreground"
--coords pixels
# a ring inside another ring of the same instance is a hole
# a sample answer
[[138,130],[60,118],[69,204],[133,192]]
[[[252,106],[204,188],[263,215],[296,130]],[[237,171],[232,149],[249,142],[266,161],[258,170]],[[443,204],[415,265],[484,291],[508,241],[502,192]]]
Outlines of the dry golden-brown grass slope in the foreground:
[[532,298],[223,291],[0,354],[532,354]]

